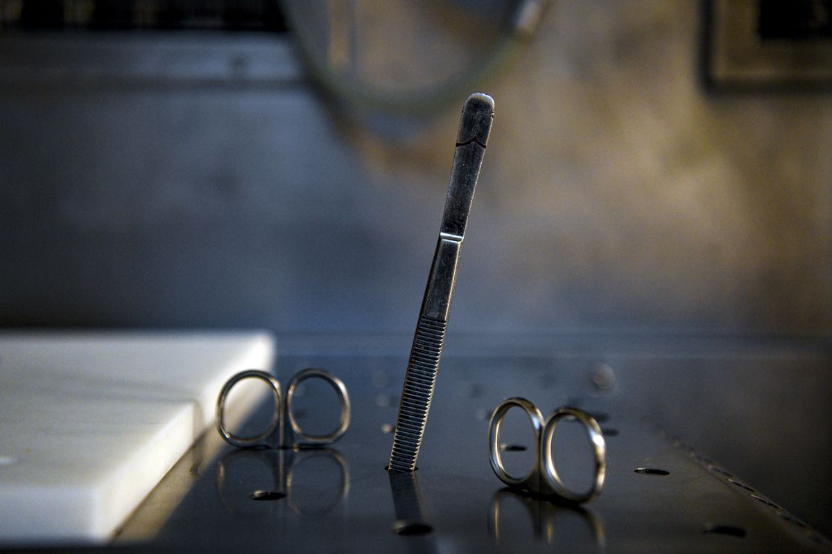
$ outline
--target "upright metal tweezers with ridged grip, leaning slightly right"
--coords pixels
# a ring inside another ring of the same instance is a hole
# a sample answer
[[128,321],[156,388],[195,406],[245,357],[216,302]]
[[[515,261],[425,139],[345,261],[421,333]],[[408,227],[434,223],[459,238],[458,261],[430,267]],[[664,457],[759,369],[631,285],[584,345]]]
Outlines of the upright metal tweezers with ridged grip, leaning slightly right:
[[493,118],[494,101],[491,96],[480,92],[468,96],[459,120],[442,227],[439,229],[428,287],[424,293],[408,370],[404,377],[399,418],[396,421],[388,466],[392,472],[412,472],[416,469],[416,458],[422,445],[430,402],[436,387],[453,286],[456,283],[459,252]]

